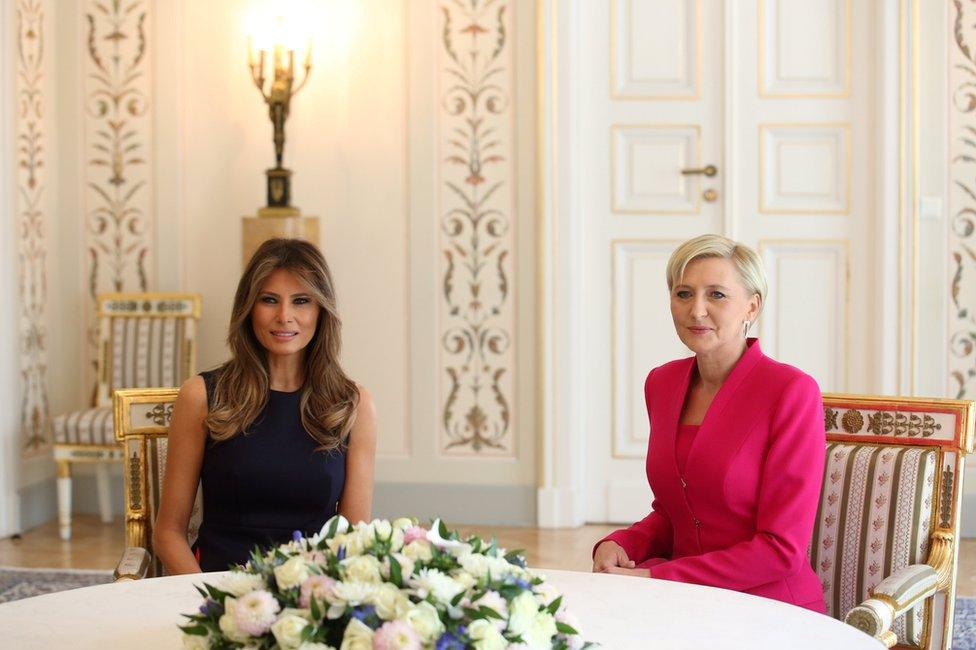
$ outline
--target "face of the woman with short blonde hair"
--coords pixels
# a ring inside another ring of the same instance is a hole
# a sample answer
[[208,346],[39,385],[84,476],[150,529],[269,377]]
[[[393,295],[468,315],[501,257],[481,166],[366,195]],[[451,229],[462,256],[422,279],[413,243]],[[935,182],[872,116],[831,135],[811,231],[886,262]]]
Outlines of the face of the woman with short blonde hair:
[[721,257],[694,260],[671,289],[674,328],[695,354],[742,345],[743,324],[758,315],[759,295],[749,294],[732,261]]

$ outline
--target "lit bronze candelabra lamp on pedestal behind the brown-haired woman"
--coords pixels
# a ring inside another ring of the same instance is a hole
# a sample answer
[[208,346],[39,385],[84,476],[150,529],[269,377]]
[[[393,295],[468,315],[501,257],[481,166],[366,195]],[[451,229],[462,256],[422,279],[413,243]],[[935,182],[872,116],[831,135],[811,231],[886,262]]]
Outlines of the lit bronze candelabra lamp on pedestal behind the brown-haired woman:
[[[278,36],[267,48],[255,48],[248,43],[248,67],[251,78],[268,106],[268,116],[274,132],[275,166],[265,171],[267,205],[258,209],[257,216],[242,219],[242,262],[247,265],[251,255],[262,242],[273,237],[299,237],[314,244],[319,241],[317,217],[303,216],[291,204],[291,170],[284,167],[285,122],[292,98],[308,81],[312,72],[312,46],[305,50],[301,79],[295,78],[295,49],[286,45],[282,34],[282,19],[278,19]],[[269,57],[268,54],[271,54]],[[271,59],[270,77],[267,61]]]

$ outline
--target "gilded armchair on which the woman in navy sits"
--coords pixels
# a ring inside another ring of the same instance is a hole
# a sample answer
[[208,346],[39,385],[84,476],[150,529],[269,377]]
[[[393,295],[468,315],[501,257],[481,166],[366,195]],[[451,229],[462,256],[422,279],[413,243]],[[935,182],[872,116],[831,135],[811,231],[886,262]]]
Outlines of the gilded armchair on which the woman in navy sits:
[[[115,579],[136,580],[162,575],[152,547],[153,524],[166,473],[166,450],[177,388],[117,390],[114,396],[115,438],[125,455],[125,546]],[[196,541],[203,520],[203,495],[196,501],[187,531]]]

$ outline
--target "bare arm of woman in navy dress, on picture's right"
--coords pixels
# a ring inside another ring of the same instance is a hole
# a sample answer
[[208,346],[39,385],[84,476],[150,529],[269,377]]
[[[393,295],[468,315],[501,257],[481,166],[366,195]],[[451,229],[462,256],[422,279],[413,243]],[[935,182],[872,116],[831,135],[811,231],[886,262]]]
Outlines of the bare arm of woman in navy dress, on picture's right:
[[346,450],[346,485],[339,499],[339,514],[351,523],[371,519],[375,461],[376,408],[369,391],[360,386],[356,423]]

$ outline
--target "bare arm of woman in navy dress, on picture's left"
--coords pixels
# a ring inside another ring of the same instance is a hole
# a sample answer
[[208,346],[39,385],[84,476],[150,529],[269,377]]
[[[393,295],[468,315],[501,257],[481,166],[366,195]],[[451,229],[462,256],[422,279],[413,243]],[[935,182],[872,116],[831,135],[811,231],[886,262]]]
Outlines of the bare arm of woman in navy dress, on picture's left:
[[153,529],[153,548],[169,574],[200,572],[200,565],[186,541],[186,529],[200,483],[207,442],[203,424],[206,417],[207,389],[203,377],[191,377],[180,387],[173,406],[163,495]]

